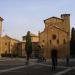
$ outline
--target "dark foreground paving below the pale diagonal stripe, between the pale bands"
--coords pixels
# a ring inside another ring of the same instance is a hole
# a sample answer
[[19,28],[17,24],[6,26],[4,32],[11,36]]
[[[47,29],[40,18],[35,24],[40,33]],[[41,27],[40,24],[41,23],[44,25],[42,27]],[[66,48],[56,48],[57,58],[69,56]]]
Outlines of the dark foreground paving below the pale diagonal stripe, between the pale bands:
[[[14,68],[15,69],[15,68]],[[1,71],[0,75],[53,75],[59,71],[63,71],[64,68],[57,68],[56,71],[52,71],[50,66],[44,66],[40,64],[32,66],[24,66],[15,70]]]

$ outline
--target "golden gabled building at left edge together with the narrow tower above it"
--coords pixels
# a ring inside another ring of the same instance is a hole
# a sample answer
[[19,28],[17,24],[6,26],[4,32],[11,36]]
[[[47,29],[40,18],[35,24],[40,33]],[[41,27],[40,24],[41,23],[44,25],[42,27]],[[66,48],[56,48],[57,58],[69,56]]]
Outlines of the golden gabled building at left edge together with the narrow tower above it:
[[17,43],[20,42],[14,38],[11,38],[8,35],[2,36],[2,22],[3,18],[0,17],[0,57],[9,56],[9,55],[16,55],[17,51]]

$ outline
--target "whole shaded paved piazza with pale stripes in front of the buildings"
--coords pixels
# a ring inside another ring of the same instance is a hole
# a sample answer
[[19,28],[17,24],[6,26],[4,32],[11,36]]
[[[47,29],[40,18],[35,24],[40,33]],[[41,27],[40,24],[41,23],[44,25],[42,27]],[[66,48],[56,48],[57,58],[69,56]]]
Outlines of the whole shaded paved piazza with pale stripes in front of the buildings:
[[59,62],[52,71],[50,63],[31,61],[25,65],[25,59],[0,59],[0,75],[75,75],[75,60],[71,60],[69,66],[65,61]]

